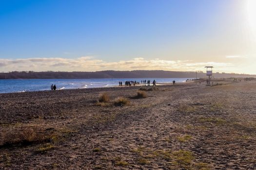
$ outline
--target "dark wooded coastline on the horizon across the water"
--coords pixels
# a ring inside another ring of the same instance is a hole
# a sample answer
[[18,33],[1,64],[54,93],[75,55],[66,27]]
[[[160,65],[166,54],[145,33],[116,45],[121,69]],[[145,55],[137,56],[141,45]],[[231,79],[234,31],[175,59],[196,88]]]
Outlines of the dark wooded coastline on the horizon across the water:
[[[249,74],[213,73],[214,78],[245,78],[256,77]],[[197,78],[205,78],[206,73],[197,72]],[[0,79],[92,79],[92,78],[196,78],[194,71],[164,71],[164,70],[133,70],[133,71],[95,71],[95,72],[64,72],[64,71],[12,71],[0,73]]]

